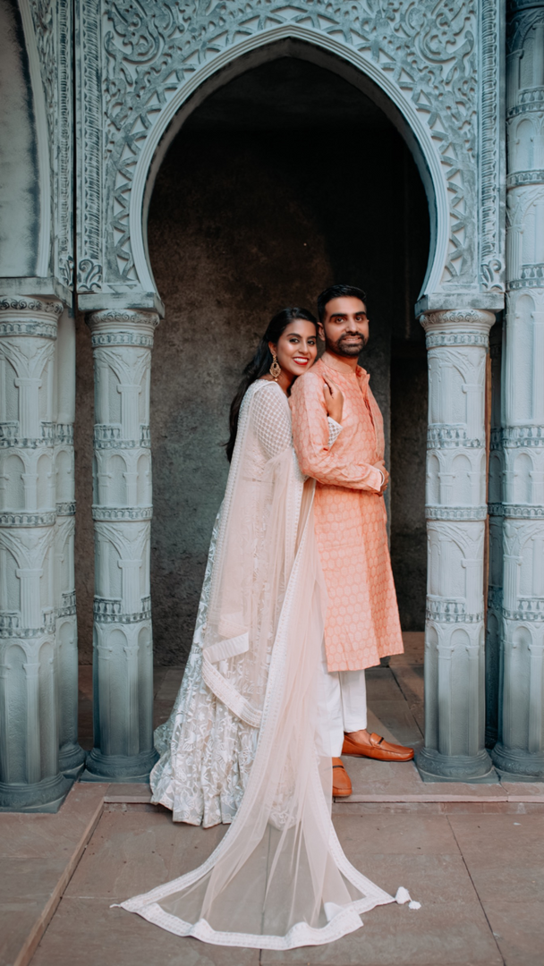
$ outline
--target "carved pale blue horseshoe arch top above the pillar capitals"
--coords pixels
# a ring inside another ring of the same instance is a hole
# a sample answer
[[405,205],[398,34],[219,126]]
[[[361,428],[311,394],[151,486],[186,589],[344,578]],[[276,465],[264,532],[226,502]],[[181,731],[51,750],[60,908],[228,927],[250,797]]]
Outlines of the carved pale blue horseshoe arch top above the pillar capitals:
[[[129,6],[129,0],[78,3],[78,77],[86,92],[77,255],[82,308],[117,303],[160,310],[145,239],[160,160],[203,99],[277,56],[301,57],[343,75],[405,138],[431,215],[422,295],[446,302],[462,292],[465,302],[483,296],[490,307],[501,300],[501,153],[495,149],[501,105],[493,93],[500,89],[500,0],[483,4],[485,32],[469,0],[455,11],[444,5],[440,34],[435,0],[416,6],[400,0],[387,7],[387,16],[381,5],[325,0],[194,3],[192,11],[181,11],[174,0],[140,0],[141,19],[132,6],[129,15]],[[493,156],[486,156],[491,129]]]

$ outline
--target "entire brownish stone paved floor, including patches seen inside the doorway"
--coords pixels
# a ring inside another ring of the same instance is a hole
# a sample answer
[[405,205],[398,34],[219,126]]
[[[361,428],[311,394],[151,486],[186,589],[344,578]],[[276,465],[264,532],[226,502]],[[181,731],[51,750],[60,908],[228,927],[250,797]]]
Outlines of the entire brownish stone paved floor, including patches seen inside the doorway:
[[[370,727],[417,745],[421,636],[405,646],[368,672]],[[157,668],[157,724],[181,675]],[[381,907],[337,943],[287,953],[180,939],[110,905],[199,865],[225,830],[173,825],[145,785],[78,784],[57,815],[0,814],[0,966],[544,966],[544,784],[429,784],[411,762],[346,765],[354,794],[333,805],[346,853],[389,893],[407,887],[420,910]]]

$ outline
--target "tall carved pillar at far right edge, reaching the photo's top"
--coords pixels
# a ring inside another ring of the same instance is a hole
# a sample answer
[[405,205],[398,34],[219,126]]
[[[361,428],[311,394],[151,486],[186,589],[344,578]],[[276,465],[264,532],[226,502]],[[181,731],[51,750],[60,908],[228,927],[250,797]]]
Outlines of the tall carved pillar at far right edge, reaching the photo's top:
[[511,5],[502,436],[499,740],[516,781],[544,778],[544,3]]

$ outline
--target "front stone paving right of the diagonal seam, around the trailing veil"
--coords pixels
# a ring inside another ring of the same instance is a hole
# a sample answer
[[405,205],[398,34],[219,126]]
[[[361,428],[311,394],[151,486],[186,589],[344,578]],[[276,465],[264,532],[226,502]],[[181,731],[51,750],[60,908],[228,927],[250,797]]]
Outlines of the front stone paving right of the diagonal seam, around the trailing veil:
[[221,827],[175,827],[165,810],[109,805],[32,966],[542,966],[544,814],[336,814],[352,862],[420,910],[385,906],[358,932],[292,952],[222,949],[180,939],[110,904],[199,865]]

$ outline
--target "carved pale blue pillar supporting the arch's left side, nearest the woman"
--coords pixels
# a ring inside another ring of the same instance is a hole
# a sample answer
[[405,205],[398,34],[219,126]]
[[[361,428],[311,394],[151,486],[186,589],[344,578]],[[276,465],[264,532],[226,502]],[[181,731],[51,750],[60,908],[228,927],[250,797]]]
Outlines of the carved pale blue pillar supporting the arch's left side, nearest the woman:
[[146,781],[153,746],[149,390],[154,312],[93,312],[95,747],[86,781]]

